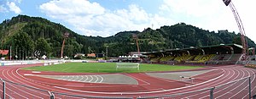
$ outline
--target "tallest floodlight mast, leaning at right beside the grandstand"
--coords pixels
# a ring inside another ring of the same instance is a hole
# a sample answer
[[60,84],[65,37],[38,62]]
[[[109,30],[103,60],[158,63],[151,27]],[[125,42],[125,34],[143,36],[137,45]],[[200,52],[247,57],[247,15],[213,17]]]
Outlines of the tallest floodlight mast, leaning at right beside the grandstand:
[[243,59],[246,59],[247,56],[247,40],[245,38],[245,30],[243,28],[243,25],[241,23],[240,16],[238,12],[236,11],[235,5],[231,2],[231,0],[223,0],[224,4],[226,6],[230,6],[232,13],[234,14],[236,18],[236,24],[238,25],[239,31],[241,33],[241,45],[242,45],[242,51],[241,53],[243,54]]

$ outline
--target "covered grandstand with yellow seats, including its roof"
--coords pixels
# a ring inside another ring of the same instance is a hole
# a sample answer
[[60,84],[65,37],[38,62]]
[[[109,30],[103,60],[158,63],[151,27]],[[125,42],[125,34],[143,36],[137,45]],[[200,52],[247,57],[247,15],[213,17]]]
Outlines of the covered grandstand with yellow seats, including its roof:
[[241,60],[241,45],[220,44],[206,47],[169,49],[160,52],[143,52],[146,63],[236,64]]

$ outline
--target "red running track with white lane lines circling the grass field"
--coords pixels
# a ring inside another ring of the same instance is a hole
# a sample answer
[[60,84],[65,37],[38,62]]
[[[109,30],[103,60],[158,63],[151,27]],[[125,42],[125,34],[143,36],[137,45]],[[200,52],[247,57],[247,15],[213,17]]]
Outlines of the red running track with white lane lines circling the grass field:
[[[55,98],[80,98],[75,96],[58,95],[56,92],[79,96],[166,96],[188,91],[196,91],[166,98],[190,98],[190,99],[208,99],[209,90],[205,88],[215,87],[214,98],[248,98],[248,76],[251,76],[252,94],[256,94],[256,69],[244,68],[238,65],[229,65],[222,67],[211,67],[215,69],[206,74],[194,76],[194,84],[189,84],[179,80],[165,80],[149,76],[148,74],[125,74],[138,81],[138,85],[113,85],[113,84],[95,84],[73,82],[66,80],[52,80],[38,76],[27,76],[24,74],[33,74],[32,71],[21,70],[20,68],[29,66],[38,66],[42,64],[16,65],[0,67],[0,78],[6,81],[6,97],[12,98],[49,98],[49,91],[55,92]],[[70,73],[41,72],[40,74],[58,75]],[[79,75],[79,73],[76,73]],[[86,74],[86,73],[84,73]],[[74,75],[74,74],[72,74]],[[238,80],[238,81],[234,81]],[[15,82],[21,85],[16,85]],[[230,81],[233,81],[229,83]],[[226,84],[229,83],[229,84]],[[224,85],[226,84],[226,85]],[[25,87],[32,86],[32,87]],[[3,88],[3,83],[0,84]],[[3,97],[3,90],[0,90]]]

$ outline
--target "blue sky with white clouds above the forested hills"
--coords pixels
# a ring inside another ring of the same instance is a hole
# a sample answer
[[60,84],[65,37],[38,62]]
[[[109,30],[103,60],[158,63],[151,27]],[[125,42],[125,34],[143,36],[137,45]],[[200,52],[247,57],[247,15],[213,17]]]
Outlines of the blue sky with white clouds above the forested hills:
[[[256,0],[232,0],[246,36],[256,41]],[[0,22],[18,14],[49,19],[84,36],[186,23],[203,30],[239,32],[223,0],[0,0]]]

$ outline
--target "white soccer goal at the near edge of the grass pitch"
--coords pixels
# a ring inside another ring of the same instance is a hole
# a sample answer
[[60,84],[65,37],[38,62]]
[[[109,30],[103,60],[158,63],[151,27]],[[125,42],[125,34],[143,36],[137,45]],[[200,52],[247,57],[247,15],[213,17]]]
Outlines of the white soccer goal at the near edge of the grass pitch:
[[118,69],[140,69],[140,63],[116,63],[116,70]]

